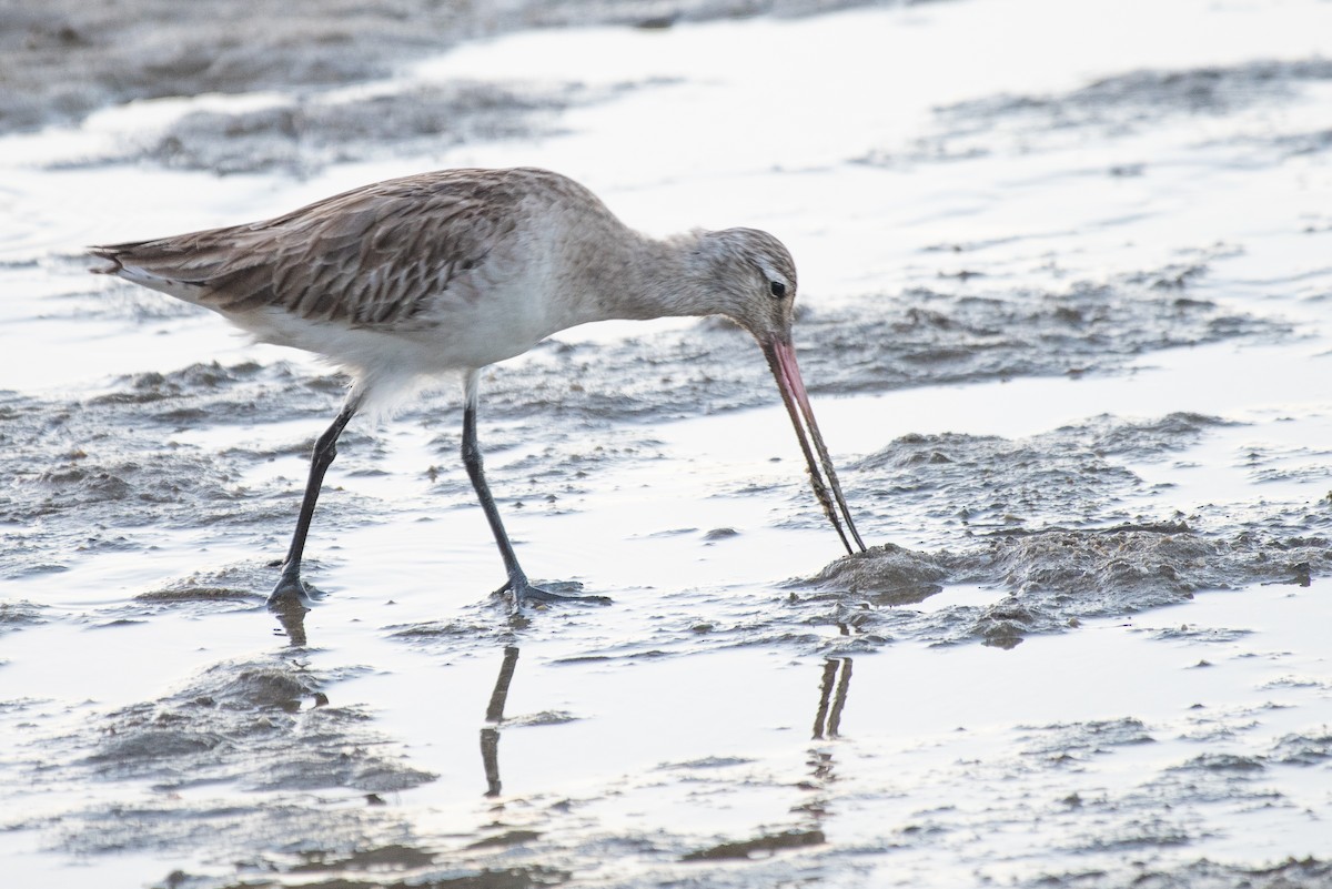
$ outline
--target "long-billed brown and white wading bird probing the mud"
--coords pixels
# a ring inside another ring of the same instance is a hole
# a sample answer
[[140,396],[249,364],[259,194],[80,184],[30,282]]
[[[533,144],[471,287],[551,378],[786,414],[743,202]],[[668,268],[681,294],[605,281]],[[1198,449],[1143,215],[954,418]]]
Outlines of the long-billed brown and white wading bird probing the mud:
[[570,599],[531,584],[486,483],[481,369],[590,321],[721,314],[758,341],[847,552],[851,522],[791,345],[795,264],[757,229],[651,238],[542,169],[456,169],[376,182],[262,222],[91,248],[95,269],[217,311],[256,339],[316,353],[353,383],[316,441],[269,604],[305,598],[301,556],[344,427],[376,394],[462,374],[462,462],[515,607]]

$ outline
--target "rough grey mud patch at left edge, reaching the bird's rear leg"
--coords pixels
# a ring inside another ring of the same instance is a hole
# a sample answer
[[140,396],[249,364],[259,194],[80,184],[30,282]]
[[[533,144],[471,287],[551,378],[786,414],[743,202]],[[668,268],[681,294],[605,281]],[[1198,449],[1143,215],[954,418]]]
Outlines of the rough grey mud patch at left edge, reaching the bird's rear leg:
[[[297,486],[278,480],[252,487],[240,480],[273,452],[248,447],[216,452],[177,435],[201,421],[284,419],[324,403],[330,413],[336,398],[320,379],[250,362],[135,374],[79,402],[8,395],[0,474],[9,484],[0,498],[0,523],[29,531],[0,551],[0,572],[59,570],[88,552],[143,547],[135,540],[141,528],[261,532],[265,523],[289,522]],[[317,431],[313,426],[312,438]],[[293,444],[301,452],[308,447]],[[360,448],[349,460],[376,456],[376,448]],[[333,498],[330,508],[336,512],[349,506],[346,500]]]

